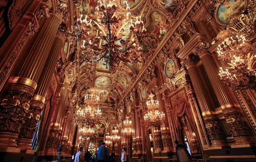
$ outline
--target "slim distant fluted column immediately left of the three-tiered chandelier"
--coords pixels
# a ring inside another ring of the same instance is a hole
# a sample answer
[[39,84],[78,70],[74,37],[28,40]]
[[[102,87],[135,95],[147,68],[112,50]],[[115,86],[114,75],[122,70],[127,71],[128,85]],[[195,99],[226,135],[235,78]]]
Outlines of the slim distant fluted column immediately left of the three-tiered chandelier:
[[140,129],[140,117],[139,112],[135,111],[135,122],[136,122],[136,150],[137,154],[142,154],[142,137],[141,137],[141,129]]

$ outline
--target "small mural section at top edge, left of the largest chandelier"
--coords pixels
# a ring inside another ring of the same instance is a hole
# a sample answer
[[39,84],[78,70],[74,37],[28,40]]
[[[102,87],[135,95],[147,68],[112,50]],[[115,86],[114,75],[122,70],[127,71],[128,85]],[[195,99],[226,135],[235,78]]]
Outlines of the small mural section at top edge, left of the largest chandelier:
[[94,7],[96,5],[97,0],[83,0],[81,5],[79,6],[79,15],[88,16],[88,19],[92,19],[94,15]]

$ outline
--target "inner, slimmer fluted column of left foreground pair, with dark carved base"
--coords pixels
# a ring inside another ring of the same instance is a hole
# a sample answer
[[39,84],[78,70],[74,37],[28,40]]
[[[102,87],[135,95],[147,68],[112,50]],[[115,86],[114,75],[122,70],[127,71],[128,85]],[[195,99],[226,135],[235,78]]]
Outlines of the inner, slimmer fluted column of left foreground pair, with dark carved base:
[[31,117],[25,119],[25,123],[21,126],[17,140],[18,148],[31,150],[31,143],[36,131],[37,123],[40,119],[41,111],[44,106],[45,95],[49,87],[50,79],[58,61],[58,56],[61,52],[61,47],[64,45],[64,40],[59,36],[55,37],[50,55],[47,58],[47,63],[44,66],[43,73],[38,81],[38,87],[35,90],[35,95],[30,102],[29,114]]

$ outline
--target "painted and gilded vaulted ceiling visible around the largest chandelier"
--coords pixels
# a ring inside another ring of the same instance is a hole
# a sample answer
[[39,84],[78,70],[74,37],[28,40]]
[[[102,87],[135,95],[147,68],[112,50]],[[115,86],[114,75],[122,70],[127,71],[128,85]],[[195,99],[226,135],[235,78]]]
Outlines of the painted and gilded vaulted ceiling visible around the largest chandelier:
[[[123,2],[123,0],[122,0]],[[121,6],[123,3],[121,2]],[[81,14],[83,17],[87,15],[90,19],[94,19],[94,10],[97,6],[97,0],[84,0],[77,8],[77,16]],[[148,6],[152,6],[151,8]],[[103,61],[85,62],[80,55],[80,91],[85,95],[90,88],[96,88],[96,93],[100,97],[101,103],[118,102],[125,94],[125,90],[133,83],[137,74],[143,68],[145,58],[149,57],[154,49],[163,40],[166,32],[169,30],[169,13],[173,13],[177,8],[174,0],[128,0],[128,6],[131,8],[131,17],[142,17],[147,29],[147,36],[143,40],[140,47],[143,50],[143,56],[139,61],[119,63],[119,67],[110,72],[106,68]],[[157,8],[161,8],[161,11]],[[129,25],[125,25],[122,29],[124,37],[130,37],[132,34]],[[90,31],[92,35],[96,34],[96,29]],[[125,38],[124,38],[125,39]]]

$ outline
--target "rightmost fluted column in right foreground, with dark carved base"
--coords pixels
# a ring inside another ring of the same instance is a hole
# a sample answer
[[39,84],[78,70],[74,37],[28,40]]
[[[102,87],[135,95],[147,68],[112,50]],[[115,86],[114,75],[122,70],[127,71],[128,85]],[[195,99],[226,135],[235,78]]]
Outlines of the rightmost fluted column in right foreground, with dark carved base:
[[221,104],[221,109],[227,120],[230,132],[234,137],[235,144],[252,143],[250,129],[247,127],[238,108],[234,105],[227,87],[221,82],[218,75],[218,69],[208,52],[208,45],[201,43],[194,53],[202,60],[208,78],[212,84],[212,88]]

